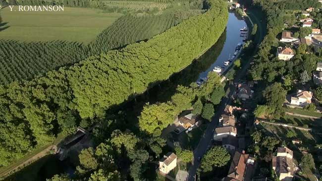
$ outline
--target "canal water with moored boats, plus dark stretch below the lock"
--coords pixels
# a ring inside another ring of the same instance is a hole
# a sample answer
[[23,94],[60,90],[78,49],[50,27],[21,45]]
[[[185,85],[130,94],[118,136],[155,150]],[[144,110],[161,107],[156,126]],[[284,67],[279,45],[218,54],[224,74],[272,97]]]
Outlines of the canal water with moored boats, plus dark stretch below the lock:
[[[238,19],[234,13],[229,12],[226,29],[215,45],[181,72],[174,74],[168,80],[151,88],[135,100],[120,105],[120,107],[124,110],[127,109],[128,112],[140,112],[137,110],[142,110],[145,102],[152,104],[157,101],[170,100],[178,85],[189,86],[192,82],[196,82],[202,77],[207,77],[207,74],[215,66],[223,66],[223,62],[229,58],[229,54],[232,56],[235,52],[237,44],[242,43],[243,38],[240,37],[239,29],[244,26],[246,26],[244,20]],[[130,124],[135,124],[135,121],[138,120],[134,118],[137,117],[138,115],[133,115]],[[126,124],[124,123],[124,127],[128,126]],[[46,179],[53,177],[55,174],[72,174],[74,170],[75,166],[68,159],[61,162],[54,155],[49,155],[27,166],[9,179],[10,181],[46,181]]]

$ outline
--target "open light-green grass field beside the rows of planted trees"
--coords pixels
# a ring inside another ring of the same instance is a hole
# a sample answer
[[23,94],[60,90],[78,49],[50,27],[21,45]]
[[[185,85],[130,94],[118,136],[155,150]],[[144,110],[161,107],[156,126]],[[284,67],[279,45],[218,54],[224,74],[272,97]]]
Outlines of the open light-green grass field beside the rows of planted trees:
[[[14,11],[16,10],[16,11]],[[14,6],[0,10],[0,39],[19,41],[76,41],[89,43],[122,14],[89,8],[64,7],[64,11],[18,11]]]

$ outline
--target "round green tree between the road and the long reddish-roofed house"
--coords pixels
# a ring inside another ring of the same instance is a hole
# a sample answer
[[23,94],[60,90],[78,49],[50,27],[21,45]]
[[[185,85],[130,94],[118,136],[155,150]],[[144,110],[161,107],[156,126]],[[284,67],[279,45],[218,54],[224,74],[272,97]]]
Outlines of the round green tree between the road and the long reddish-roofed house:
[[230,160],[228,151],[222,146],[213,146],[201,159],[200,168],[203,172],[210,172],[213,167],[227,165]]

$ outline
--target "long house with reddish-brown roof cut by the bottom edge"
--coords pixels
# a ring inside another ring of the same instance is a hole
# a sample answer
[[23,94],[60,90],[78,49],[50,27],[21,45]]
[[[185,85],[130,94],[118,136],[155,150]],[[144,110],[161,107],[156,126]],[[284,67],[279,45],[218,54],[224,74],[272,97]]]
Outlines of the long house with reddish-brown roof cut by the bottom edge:
[[254,175],[255,160],[249,154],[236,151],[231,161],[228,175],[223,181],[251,181]]

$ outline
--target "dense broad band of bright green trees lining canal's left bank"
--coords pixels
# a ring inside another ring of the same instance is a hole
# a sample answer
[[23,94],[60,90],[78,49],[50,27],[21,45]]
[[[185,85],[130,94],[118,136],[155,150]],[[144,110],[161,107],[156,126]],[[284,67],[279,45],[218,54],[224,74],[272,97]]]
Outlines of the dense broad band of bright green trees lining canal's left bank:
[[[226,26],[226,4],[193,16],[147,42],[93,55],[31,81],[0,86],[0,165],[37,145],[97,123],[105,111],[188,66]],[[209,107],[209,106],[208,106]]]

